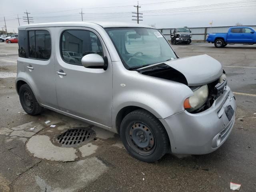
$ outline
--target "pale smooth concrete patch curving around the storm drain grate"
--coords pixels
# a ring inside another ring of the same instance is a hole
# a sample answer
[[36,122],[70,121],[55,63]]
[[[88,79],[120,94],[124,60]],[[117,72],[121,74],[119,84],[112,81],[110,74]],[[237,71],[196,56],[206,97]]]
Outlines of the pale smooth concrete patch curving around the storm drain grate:
[[30,153],[42,159],[67,162],[78,158],[76,149],[57,147],[45,135],[33,136],[28,140],[26,146]]

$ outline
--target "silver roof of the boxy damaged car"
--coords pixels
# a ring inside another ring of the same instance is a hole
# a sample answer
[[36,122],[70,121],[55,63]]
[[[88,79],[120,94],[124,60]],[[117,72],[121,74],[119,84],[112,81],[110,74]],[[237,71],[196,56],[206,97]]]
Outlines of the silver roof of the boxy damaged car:
[[38,23],[22,25],[18,27],[18,30],[25,30],[26,28],[36,28],[36,27],[62,27],[62,26],[76,26],[76,27],[89,27],[94,25],[100,25],[103,28],[118,28],[118,27],[143,27],[143,28],[153,28],[148,25],[136,24],[136,23],[126,23],[126,22],[52,22],[52,23]]

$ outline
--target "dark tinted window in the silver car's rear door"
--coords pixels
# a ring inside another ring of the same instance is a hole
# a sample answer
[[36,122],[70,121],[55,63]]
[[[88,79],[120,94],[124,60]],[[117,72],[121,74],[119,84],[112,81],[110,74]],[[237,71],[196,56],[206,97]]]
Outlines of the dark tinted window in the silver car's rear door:
[[51,56],[51,37],[46,30],[28,32],[30,58],[48,60]]

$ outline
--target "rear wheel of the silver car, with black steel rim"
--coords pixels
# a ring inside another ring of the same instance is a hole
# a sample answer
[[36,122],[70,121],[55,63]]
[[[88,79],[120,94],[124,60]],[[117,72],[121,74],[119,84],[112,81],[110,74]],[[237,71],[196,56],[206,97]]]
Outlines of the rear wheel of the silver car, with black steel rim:
[[38,104],[34,93],[28,84],[23,84],[19,90],[20,104],[24,111],[30,115],[40,114],[42,107]]

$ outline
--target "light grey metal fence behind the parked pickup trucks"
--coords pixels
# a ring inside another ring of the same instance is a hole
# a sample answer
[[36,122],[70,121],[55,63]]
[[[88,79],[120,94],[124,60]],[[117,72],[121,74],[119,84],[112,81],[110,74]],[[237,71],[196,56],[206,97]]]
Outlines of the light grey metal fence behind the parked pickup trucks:
[[[192,41],[206,41],[206,35],[208,33],[226,33],[226,32],[228,32],[228,29],[230,27],[232,27],[232,26],[190,28],[190,30],[192,32]],[[256,25],[251,25],[248,27],[252,27],[256,30]],[[162,34],[164,34],[165,38],[168,41],[171,40],[170,29],[171,28],[159,29],[162,32]]]

